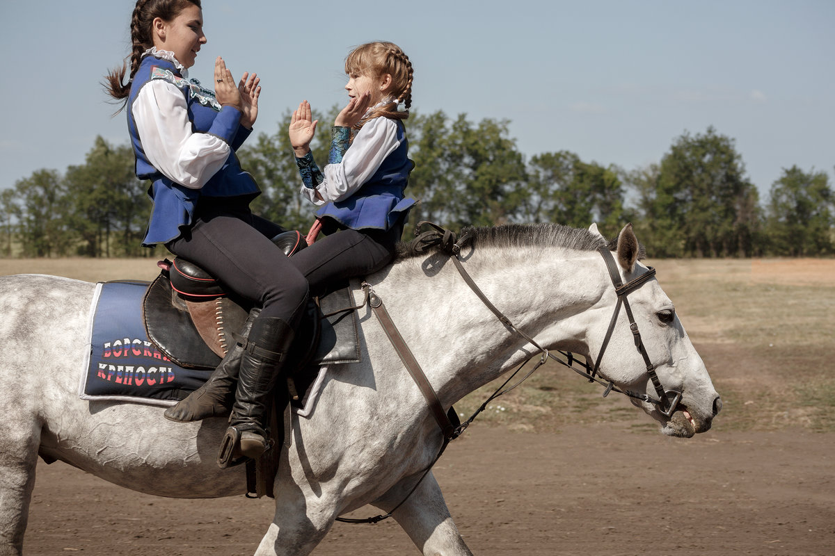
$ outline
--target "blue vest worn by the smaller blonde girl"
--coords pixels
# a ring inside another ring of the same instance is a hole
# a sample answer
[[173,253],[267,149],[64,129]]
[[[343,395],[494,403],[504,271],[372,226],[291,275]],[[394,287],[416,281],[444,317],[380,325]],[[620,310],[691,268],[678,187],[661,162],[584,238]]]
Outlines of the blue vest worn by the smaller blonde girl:
[[401,218],[405,219],[416,202],[404,198],[414,163],[407,156],[406,130],[400,121],[397,121],[397,141],[399,146],[351,197],[327,203],[316,211],[316,216],[322,219],[323,233],[337,228],[387,230]]

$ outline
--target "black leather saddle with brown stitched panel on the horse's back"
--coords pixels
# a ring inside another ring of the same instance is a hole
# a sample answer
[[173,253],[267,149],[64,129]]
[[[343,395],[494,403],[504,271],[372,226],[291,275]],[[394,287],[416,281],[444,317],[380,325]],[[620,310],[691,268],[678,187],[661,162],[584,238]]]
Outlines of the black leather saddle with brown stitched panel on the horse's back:
[[[306,248],[301,233],[281,233],[274,240],[290,257]],[[228,292],[205,270],[183,258],[159,263],[162,271],[145,292],[143,320],[148,338],[184,368],[215,368],[235,341],[252,308]],[[351,293],[342,288],[308,303],[287,368],[360,360],[357,316]],[[329,318],[325,314],[337,313]]]

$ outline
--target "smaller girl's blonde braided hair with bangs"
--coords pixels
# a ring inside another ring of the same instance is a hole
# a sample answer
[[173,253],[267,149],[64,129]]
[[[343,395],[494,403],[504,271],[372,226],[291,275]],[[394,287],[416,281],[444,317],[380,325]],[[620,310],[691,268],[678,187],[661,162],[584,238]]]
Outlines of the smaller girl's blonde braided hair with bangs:
[[[362,125],[369,120],[381,116],[397,120],[405,120],[409,117],[409,108],[412,108],[414,70],[409,57],[397,44],[384,41],[361,44],[345,58],[345,73],[348,75],[357,73],[375,78],[386,73],[392,76],[391,93],[395,102],[374,108],[367,118],[363,118],[354,126],[355,128],[362,128]],[[403,112],[397,110],[397,105],[400,103],[403,103],[405,108]]]

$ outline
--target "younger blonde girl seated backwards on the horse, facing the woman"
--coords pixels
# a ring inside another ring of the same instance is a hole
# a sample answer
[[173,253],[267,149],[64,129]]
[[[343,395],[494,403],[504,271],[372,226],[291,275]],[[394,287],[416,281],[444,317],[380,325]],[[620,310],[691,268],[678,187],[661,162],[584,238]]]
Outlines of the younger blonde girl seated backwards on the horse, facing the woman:
[[[415,203],[403,193],[414,168],[402,123],[412,105],[412,63],[396,44],[367,43],[348,54],[345,73],[351,100],[334,121],[325,168],[311,155],[318,120],[311,121],[307,101],[293,113],[289,129],[301,193],[321,207],[316,217],[329,234],[291,258],[311,295],[389,263]],[[405,112],[397,110],[400,103]]]

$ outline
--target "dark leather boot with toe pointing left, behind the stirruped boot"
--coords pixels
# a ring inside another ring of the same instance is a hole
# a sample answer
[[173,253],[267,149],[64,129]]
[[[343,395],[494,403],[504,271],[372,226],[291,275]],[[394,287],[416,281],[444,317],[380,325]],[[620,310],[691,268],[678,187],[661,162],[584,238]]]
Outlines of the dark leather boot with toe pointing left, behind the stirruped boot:
[[250,335],[252,322],[261,314],[261,308],[253,308],[246,318],[240,334],[220,364],[211,373],[209,380],[174,406],[165,410],[165,418],[178,423],[200,421],[207,417],[225,417],[235,403],[235,385],[238,381],[240,358],[244,344]]

